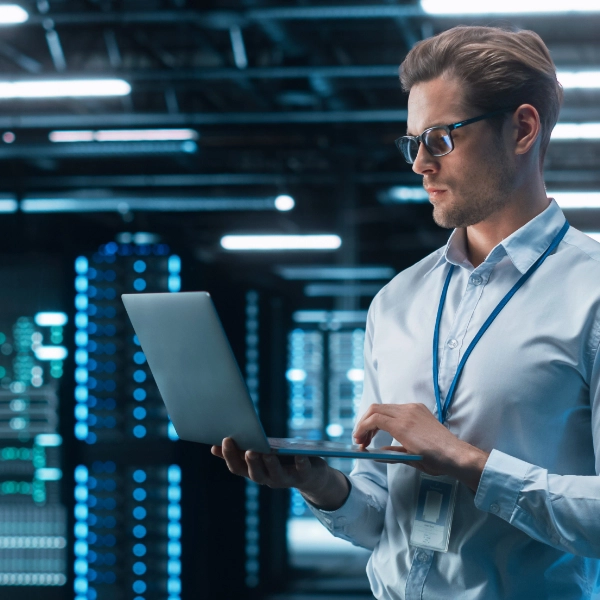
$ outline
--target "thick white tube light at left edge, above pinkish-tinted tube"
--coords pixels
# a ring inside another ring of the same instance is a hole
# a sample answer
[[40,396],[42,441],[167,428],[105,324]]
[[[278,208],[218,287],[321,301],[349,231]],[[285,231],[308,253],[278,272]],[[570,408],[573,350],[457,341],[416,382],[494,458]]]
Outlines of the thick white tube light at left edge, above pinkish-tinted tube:
[[127,96],[131,86],[123,79],[57,79],[0,82],[0,99],[86,98]]

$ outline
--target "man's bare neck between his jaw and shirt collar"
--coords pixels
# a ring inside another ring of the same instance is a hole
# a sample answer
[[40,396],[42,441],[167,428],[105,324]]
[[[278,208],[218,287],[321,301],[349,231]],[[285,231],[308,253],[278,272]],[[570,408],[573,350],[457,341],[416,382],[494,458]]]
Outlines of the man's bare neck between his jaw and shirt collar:
[[474,267],[478,267],[503,239],[546,210],[549,200],[543,183],[540,187],[533,194],[533,190],[528,190],[527,195],[511,198],[502,210],[467,227],[467,256]]

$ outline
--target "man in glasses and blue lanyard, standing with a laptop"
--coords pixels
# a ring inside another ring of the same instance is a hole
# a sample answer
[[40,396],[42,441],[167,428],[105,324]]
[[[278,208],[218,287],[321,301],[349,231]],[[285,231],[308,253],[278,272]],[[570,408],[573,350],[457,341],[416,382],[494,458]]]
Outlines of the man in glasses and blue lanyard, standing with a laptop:
[[532,32],[459,27],[401,80],[397,144],[455,230],[371,305],[354,435],[422,462],[360,460],[348,481],[230,439],[213,453],[373,549],[379,599],[600,598],[600,246],[546,197],[555,67]]

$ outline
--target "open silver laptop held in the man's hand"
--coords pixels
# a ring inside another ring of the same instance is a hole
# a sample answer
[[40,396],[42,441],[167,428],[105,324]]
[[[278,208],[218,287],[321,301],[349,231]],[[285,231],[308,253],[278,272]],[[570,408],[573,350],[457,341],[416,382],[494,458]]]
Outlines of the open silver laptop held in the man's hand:
[[123,303],[177,435],[273,454],[421,460],[341,442],[268,438],[207,292],[123,294]]

